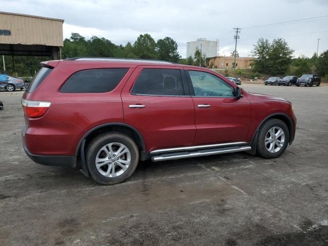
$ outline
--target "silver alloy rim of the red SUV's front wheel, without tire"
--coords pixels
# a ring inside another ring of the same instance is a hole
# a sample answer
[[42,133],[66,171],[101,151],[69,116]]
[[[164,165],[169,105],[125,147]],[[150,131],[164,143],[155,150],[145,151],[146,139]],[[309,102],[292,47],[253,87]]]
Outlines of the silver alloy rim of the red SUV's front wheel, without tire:
[[285,142],[285,133],[280,127],[271,128],[265,135],[264,145],[270,153],[279,152]]

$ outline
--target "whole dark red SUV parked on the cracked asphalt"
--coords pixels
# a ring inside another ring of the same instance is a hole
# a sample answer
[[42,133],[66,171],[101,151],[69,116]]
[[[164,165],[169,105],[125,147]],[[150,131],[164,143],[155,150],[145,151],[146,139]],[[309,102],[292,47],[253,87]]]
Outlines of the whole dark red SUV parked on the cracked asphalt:
[[46,61],[22,105],[23,147],[33,161],[80,167],[105,185],[126,180],[139,160],[238,151],[276,158],[296,128],[288,101],[168,61]]

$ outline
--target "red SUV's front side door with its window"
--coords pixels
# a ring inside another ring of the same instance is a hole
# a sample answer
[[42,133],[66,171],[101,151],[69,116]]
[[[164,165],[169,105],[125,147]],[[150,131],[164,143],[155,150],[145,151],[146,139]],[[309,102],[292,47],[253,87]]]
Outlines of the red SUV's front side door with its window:
[[[193,88],[198,87],[196,93],[199,95],[192,96],[195,105],[195,125],[197,129],[193,145],[247,141],[251,125],[250,101],[247,97],[238,99],[233,95],[224,96],[234,93],[233,85],[227,83],[215,73],[206,75],[209,72],[198,71],[201,72],[199,76],[200,78],[203,77],[202,83],[204,86],[197,81],[197,78],[192,78],[197,73],[188,76],[190,79],[189,85]],[[213,75],[217,78],[217,83],[220,83],[220,86],[215,85]],[[194,83],[192,80],[194,80]],[[231,88],[233,92],[229,92],[227,88]]]

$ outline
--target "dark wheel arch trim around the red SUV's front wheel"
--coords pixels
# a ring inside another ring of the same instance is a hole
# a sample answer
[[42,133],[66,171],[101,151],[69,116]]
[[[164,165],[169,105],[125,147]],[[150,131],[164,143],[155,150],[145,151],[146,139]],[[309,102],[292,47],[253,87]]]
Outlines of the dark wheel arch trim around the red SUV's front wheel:
[[258,131],[261,128],[261,126],[263,126],[263,124],[265,122],[267,122],[270,119],[280,119],[281,121],[283,121],[286,126],[288,127],[289,130],[289,139],[288,142],[289,144],[292,144],[293,141],[293,122],[291,120],[290,117],[288,117],[288,115],[284,114],[284,113],[275,113],[275,114],[271,114],[269,116],[267,116],[266,118],[264,118],[261,123],[259,124],[259,126],[257,127],[254,136],[252,138],[252,150],[250,151],[251,154],[255,154],[256,153],[256,145],[257,145],[257,138],[258,138]]

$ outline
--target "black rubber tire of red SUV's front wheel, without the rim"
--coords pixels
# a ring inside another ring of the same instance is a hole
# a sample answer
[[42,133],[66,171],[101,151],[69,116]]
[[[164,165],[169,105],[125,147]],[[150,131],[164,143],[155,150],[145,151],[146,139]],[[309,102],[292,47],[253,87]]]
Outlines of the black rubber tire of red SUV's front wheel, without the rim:
[[[283,146],[281,147],[280,150],[278,150],[275,153],[269,152],[267,150],[267,147],[265,147],[265,137],[267,137],[267,133],[273,127],[281,128],[284,133]],[[286,126],[286,124],[280,119],[269,119],[268,121],[264,122],[264,124],[259,129],[256,153],[263,158],[268,158],[268,159],[277,158],[286,150],[288,146],[288,142],[289,142],[289,129]]]

